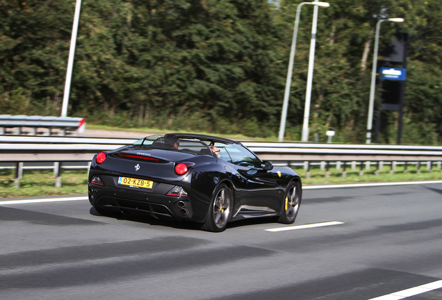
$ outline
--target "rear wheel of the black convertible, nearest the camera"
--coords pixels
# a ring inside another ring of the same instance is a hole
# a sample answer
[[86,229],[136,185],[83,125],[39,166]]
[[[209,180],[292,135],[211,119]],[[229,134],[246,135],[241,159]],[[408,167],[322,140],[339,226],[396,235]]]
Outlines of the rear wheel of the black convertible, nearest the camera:
[[202,229],[205,231],[221,232],[227,227],[232,209],[232,192],[224,183],[220,184],[213,192],[213,197],[208,206],[206,222]]

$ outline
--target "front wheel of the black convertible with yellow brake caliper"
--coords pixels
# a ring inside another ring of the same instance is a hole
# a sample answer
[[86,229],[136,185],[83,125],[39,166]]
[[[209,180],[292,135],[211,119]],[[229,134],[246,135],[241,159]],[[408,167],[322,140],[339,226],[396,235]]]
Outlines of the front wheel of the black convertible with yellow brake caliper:
[[286,190],[286,197],[282,202],[281,215],[278,222],[282,224],[293,224],[297,212],[300,210],[302,190],[301,184],[297,181],[291,182]]

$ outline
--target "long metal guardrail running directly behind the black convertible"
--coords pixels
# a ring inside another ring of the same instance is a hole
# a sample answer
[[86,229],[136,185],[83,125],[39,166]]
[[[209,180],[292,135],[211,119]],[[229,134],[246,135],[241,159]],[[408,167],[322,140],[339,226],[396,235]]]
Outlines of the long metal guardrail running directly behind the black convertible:
[[[79,162],[92,160],[95,153],[110,151],[136,139],[125,138],[79,138],[79,137],[31,137],[0,135],[0,162]],[[262,160],[274,163],[305,162],[307,177],[312,162],[322,162],[328,172],[329,164],[343,166],[343,176],[347,164],[352,169],[358,162],[363,174],[363,163],[376,163],[377,169],[384,162],[420,163],[427,162],[431,168],[433,162],[442,160],[442,147],[411,146],[411,145],[382,145],[382,144],[319,144],[291,142],[242,142],[254,151]],[[56,168],[54,168],[55,170]],[[61,168],[57,167],[56,174],[60,177]],[[327,176],[327,173],[326,173]],[[16,172],[19,178],[19,171]]]

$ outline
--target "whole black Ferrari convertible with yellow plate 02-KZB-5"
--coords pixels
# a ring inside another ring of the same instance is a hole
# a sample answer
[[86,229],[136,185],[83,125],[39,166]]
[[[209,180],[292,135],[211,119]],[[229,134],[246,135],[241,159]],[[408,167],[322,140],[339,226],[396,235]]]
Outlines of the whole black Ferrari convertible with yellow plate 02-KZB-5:
[[150,135],[92,160],[89,201],[101,215],[145,213],[192,221],[206,231],[273,217],[295,222],[300,176],[273,167],[240,142],[208,135]]

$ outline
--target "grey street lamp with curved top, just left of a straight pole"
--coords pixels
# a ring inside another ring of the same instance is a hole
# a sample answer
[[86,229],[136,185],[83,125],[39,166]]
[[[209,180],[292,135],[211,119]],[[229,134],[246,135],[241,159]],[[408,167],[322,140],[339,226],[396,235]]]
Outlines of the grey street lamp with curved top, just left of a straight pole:
[[[295,47],[296,47],[296,38],[297,38],[297,28],[300,23],[300,14],[301,7],[304,4],[311,4],[315,6],[316,11],[318,10],[318,6],[329,7],[330,4],[327,2],[302,2],[297,6],[296,10],[296,18],[295,18],[295,29],[293,30],[293,40],[292,40],[292,48],[290,50],[290,60],[288,62],[288,72],[287,72],[287,80],[286,80],[286,90],[284,92],[284,102],[282,104],[282,113],[281,113],[281,124],[279,126],[279,142],[284,140],[284,131],[286,128],[286,118],[287,118],[287,107],[288,107],[288,96],[290,94],[290,83],[292,81],[292,72],[293,72],[293,60],[295,58]],[[316,25],[315,25],[316,31]],[[312,29],[313,33],[313,29]],[[316,34],[316,33],[315,33]]]

